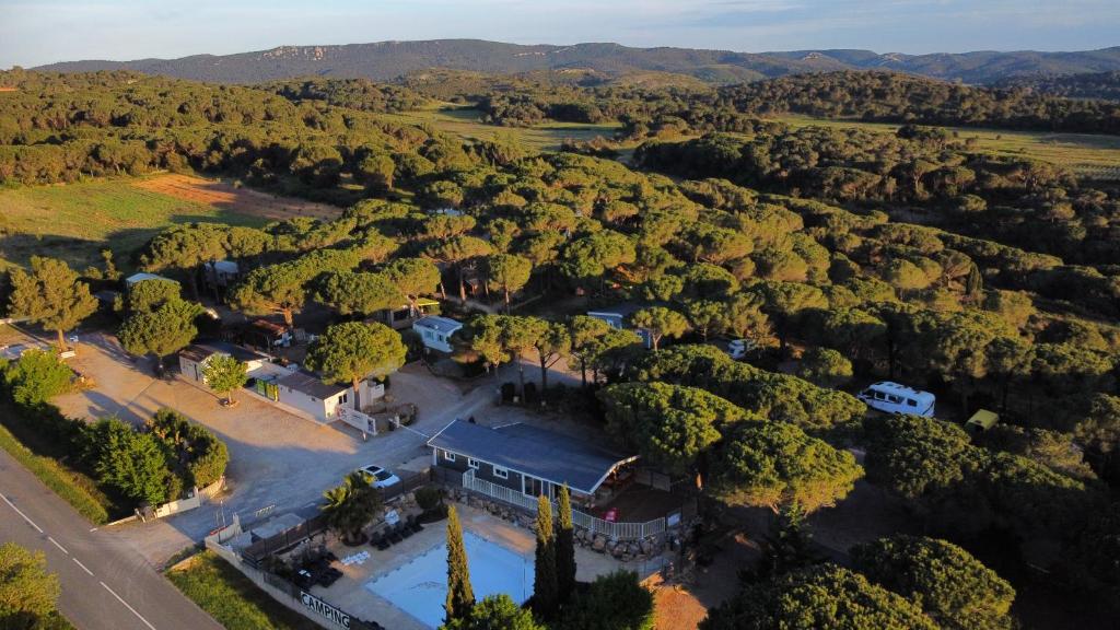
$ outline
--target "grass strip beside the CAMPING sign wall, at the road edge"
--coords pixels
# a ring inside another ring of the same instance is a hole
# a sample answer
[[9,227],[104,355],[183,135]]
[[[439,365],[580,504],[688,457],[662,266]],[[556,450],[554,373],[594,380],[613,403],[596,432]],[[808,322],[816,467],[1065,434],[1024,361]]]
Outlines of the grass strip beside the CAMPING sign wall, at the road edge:
[[319,630],[284,608],[213,552],[203,552],[167,573],[168,580],[226,630]]

